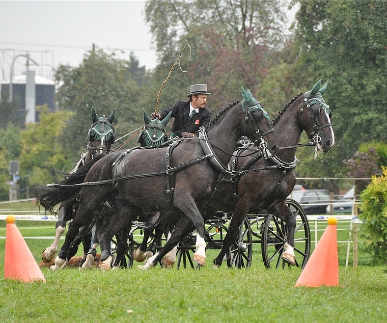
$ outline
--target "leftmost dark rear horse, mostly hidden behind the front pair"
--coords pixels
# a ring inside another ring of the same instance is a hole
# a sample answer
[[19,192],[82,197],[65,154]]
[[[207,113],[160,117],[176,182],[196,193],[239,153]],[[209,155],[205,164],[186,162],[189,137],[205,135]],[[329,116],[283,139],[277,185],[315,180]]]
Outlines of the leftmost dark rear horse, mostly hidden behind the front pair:
[[[99,153],[108,153],[110,147],[115,141],[114,127],[112,125],[116,114],[116,108],[113,109],[113,112],[106,118],[105,115],[102,115],[98,118],[95,113],[94,107],[91,108],[91,119],[92,124],[88,132],[88,145],[87,152],[82,153],[79,159],[79,162],[74,165],[70,174],[75,173],[80,167],[85,167],[84,165],[93,159],[96,154]],[[87,172],[87,171],[86,171]],[[58,251],[59,239],[61,238],[63,232],[66,229],[66,222],[72,220],[75,216],[75,210],[77,208],[77,200],[74,199],[72,203],[61,203],[58,213],[58,221],[56,223],[56,234],[55,239],[50,247],[47,247],[42,252],[43,262],[50,262]],[[91,235],[87,235],[84,238],[84,257],[90,249],[91,245]],[[85,253],[86,252],[86,253]]]

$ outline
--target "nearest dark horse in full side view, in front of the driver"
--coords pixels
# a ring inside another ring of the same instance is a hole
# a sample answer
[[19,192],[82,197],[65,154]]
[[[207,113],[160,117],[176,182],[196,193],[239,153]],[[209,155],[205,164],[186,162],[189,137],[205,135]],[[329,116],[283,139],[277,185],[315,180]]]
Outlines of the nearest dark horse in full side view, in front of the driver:
[[[220,172],[227,172],[224,165],[238,139],[247,136],[265,154],[278,150],[268,115],[261,106],[254,105],[256,102],[256,99],[243,100],[230,105],[209,126],[200,129],[199,137],[176,141],[165,148],[110,153],[95,163],[81,186],[48,187],[52,196],[63,199],[76,195],[81,187],[79,208],[56,265],[64,263],[71,245],[81,238],[77,236],[79,228],[93,222],[104,201],[112,206],[114,215],[109,225],[97,234],[102,250],[99,268],[110,268],[110,239],[117,232],[129,227],[139,216],[173,207],[195,225],[198,234],[193,260],[204,265],[205,225],[197,203],[208,199]],[[213,147],[218,150],[216,154]],[[52,205],[47,195],[44,199],[38,197],[38,201],[45,209]]]

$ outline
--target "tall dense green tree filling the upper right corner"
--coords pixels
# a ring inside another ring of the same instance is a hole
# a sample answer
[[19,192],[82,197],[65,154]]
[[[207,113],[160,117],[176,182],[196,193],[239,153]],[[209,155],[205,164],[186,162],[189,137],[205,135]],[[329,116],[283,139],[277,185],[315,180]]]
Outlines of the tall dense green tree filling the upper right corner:
[[309,174],[345,174],[343,160],[366,141],[387,138],[387,2],[301,1],[296,14],[295,88],[328,80],[336,147]]

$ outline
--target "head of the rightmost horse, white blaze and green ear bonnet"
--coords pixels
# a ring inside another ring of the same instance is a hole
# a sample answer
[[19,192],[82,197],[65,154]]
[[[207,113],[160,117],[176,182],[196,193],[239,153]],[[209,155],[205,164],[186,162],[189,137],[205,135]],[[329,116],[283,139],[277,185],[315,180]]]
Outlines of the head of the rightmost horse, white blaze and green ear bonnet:
[[307,132],[309,139],[315,144],[316,150],[327,152],[335,146],[335,134],[330,123],[332,113],[322,95],[328,83],[321,87],[321,79],[312,90],[302,97],[302,106],[299,110],[298,123]]

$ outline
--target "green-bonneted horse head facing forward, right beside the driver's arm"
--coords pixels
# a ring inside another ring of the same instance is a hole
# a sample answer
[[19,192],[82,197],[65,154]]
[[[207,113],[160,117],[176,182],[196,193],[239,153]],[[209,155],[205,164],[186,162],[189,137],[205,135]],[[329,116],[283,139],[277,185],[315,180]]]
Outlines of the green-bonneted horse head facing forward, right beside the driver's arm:
[[142,147],[156,147],[167,141],[168,136],[165,133],[165,127],[167,127],[167,124],[171,119],[172,112],[161,121],[158,118],[153,120],[149,118],[144,109],[143,114],[145,129],[140,133],[137,142],[140,143]]

